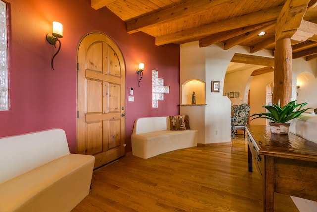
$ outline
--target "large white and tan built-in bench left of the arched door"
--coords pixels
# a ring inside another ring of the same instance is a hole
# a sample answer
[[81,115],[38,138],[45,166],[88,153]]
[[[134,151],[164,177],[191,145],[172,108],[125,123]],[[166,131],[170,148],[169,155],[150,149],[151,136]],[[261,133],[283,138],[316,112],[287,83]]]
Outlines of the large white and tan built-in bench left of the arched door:
[[0,138],[0,212],[69,212],[90,190],[95,157],[62,129]]

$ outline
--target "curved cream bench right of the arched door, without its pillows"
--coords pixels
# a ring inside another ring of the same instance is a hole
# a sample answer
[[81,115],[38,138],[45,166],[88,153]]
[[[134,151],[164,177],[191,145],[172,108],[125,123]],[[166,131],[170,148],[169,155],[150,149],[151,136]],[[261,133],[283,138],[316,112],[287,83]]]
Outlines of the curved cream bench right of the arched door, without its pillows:
[[197,130],[170,130],[169,117],[138,118],[131,135],[132,154],[144,159],[197,146]]

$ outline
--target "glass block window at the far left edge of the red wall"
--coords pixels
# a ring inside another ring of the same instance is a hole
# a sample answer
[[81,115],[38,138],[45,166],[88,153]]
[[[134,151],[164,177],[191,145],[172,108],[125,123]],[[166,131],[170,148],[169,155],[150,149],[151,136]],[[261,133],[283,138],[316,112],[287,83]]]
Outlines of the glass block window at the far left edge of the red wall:
[[9,109],[6,3],[0,0],[0,111]]

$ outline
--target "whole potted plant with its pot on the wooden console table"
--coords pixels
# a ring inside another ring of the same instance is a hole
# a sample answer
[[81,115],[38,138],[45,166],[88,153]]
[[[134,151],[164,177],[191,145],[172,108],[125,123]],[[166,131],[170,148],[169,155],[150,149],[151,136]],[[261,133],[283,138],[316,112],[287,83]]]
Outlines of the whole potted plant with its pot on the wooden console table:
[[[281,107],[280,100],[278,100],[278,105],[276,104],[273,104],[273,106],[263,105],[262,107],[266,108],[268,112],[253,114],[252,116],[257,116],[257,117],[251,119],[251,121],[257,118],[272,120],[273,122],[269,122],[272,133],[287,134],[289,126],[290,126],[290,123],[288,123],[288,121],[291,119],[295,119],[296,117],[298,117],[299,115],[307,111],[308,109],[311,109],[311,108],[302,109],[302,107],[307,105],[307,103],[308,102],[296,104],[296,100],[295,100]],[[297,107],[298,109],[294,111],[295,108]]]

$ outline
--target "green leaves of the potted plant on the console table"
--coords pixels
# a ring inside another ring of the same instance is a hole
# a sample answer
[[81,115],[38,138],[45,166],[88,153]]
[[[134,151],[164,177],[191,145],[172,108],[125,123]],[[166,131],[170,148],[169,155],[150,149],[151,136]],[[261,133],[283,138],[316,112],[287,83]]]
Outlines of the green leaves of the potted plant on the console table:
[[[296,104],[296,101],[291,101],[287,105],[281,107],[280,101],[278,100],[278,105],[276,104],[273,104],[273,106],[263,105],[262,107],[265,107],[268,110],[268,112],[253,114],[252,116],[258,116],[258,117],[251,119],[251,121],[257,118],[264,118],[264,119],[272,120],[273,122],[276,122],[276,123],[286,123],[289,120],[298,117],[299,115],[301,115],[308,109],[311,109],[311,108],[302,109],[302,107],[307,105],[307,103],[308,102]],[[297,107],[298,109],[294,111],[295,108]]]

